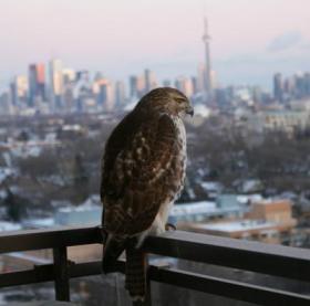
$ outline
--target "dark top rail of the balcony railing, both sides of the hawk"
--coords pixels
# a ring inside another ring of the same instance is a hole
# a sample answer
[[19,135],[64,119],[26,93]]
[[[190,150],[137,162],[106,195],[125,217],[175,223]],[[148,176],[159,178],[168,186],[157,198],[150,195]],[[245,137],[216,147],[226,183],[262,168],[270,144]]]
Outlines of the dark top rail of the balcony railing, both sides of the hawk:
[[[0,234],[0,254],[102,241],[100,226],[9,232]],[[183,231],[149,236],[144,247],[158,255],[310,281],[310,250]]]

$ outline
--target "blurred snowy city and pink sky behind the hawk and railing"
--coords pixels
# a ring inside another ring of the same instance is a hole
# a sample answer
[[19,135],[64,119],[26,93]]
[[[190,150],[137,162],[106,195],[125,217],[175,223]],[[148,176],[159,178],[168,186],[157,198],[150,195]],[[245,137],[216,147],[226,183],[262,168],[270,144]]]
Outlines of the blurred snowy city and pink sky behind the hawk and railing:
[[[107,136],[144,94],[172,86],[195,106],[186,186],[170,213],[177,228],[309,247],[309,20],[307,0],[0,0],[0,232],[99,224]],[[69,255],[101,252],[90,245]],[[50,250],[10,253],[0,272],[51,260]],[[72,281],[72,299],[127,305],[122,282]],[[155,305],[247,305],[154,291]],[[51,284],[0,289],[0,305],[40,299],[53,299]]]

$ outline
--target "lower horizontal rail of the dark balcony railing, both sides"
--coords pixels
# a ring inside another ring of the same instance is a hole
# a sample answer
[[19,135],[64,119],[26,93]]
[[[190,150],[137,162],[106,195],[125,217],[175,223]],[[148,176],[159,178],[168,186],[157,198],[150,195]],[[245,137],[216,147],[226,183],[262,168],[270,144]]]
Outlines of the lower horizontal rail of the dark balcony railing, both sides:
[[[37,278],[38,273],[34,270],[12,273],[11,276],[13,277],[7,285],[53,281],[52,264],[42,265],[40,270],[39,275],[41,276],[39,278]],[[113,270],[124,273],[125,263],[117,262]],[[101,262],[72,264],[69,266],[69,272],[70,277],[99,275],[101,274]],[[45,276],[43,277],[43,275]],[[152,265],[149,267],[149,279],[260,305],[310,305],[310,296],[176,268],[163,268]],[[0,286],[2,285],[3,283],[0,278]]]

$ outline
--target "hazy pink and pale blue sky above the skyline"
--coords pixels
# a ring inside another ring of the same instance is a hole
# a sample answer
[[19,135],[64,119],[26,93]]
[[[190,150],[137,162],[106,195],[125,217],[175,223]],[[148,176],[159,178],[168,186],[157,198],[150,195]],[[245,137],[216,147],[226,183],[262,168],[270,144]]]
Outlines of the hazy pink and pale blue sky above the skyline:
[[0,0],[0,87],[51,57],[114,80],[195,75],[204,14],[221,84],[310,71],[309,0]]

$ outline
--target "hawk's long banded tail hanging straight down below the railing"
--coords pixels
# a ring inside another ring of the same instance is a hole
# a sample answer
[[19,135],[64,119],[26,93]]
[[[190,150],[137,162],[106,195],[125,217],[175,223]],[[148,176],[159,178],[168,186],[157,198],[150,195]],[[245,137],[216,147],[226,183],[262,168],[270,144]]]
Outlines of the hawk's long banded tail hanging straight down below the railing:
[[145,299],[146,295],[146,254],[133,245],[126,247],[126,283],[134,302]]

